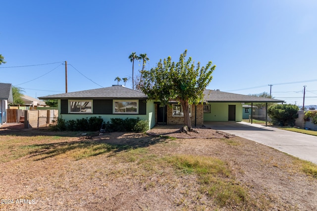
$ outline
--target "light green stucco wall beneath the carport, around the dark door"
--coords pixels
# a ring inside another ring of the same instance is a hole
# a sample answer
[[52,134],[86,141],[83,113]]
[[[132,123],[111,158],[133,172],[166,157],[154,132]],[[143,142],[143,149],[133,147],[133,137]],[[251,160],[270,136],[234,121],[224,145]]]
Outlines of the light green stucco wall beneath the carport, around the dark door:
[[211,113],[204,113],[204,121],[227,122],[229,118],[229,105],[236,106],[236,122],[242,121],[241,103],[210,103]]

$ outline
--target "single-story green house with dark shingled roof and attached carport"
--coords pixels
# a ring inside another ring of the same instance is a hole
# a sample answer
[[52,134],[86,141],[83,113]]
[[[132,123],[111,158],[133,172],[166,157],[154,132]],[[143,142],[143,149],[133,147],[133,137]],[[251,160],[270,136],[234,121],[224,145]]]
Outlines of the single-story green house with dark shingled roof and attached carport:
[[[254,102],[281,103],[282,100],[254,97],[242,94],[204,91],[205,102],[191,105],[190,116],[193,125],[203,125],[204,121],[242,121],[242,105]],[[160,107],[159,102],[148,100],[147,95],[138,90],[113,85],[84,91],[48,95],[39,99],[57,99],[58,115],[62,119],[75,120],[101,116],[105,122],[111,118],[137,118],[148,120],[150,128],[156,124],[182,125],[182,106],[176,101]]]

